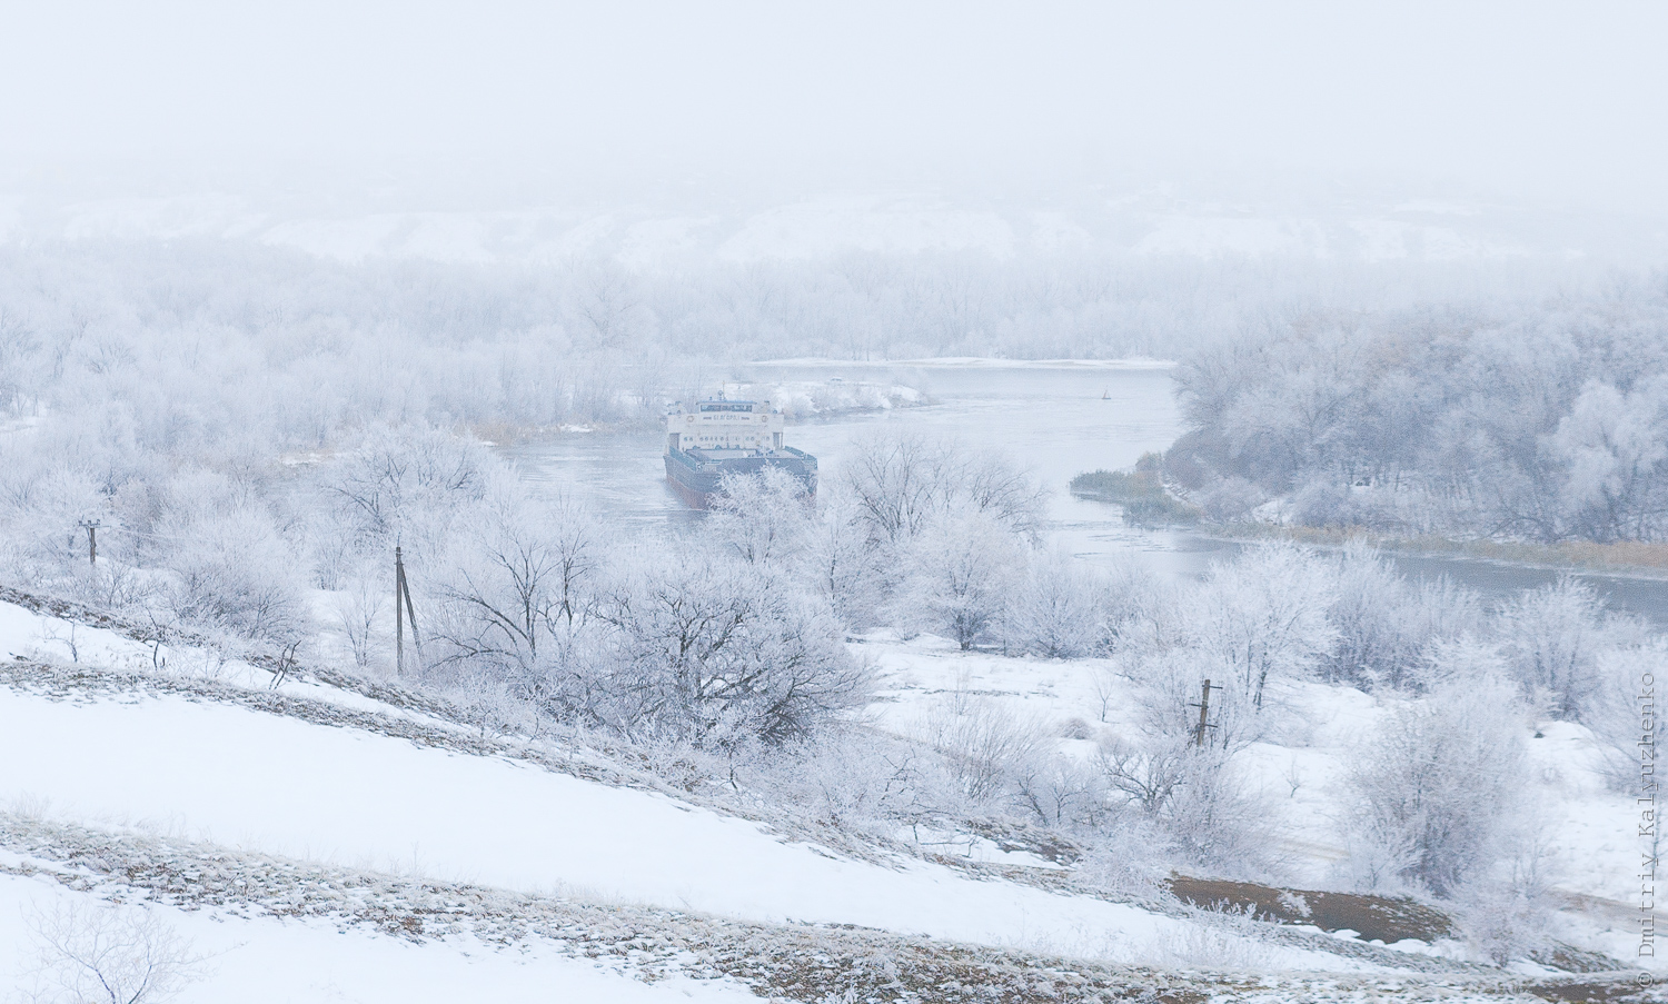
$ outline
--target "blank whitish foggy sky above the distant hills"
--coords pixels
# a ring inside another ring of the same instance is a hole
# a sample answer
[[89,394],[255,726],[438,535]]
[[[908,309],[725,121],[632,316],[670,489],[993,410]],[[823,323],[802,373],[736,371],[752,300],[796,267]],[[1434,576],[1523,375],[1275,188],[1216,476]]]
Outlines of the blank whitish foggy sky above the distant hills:
[[1371,178],[1668,205],[1661,3],[18,3],[0,190]]

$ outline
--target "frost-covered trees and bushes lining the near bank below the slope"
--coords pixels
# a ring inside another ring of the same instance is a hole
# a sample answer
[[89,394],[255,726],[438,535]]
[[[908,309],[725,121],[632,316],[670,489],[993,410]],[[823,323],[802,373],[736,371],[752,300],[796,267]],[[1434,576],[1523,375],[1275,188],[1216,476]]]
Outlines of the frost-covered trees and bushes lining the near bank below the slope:
[[[1490,610],[1364,547],[1268,545],[1168,584],[1051,552],[1037,485],[987,454],[886,435],[852,455],[816,505],[789,477],[739,479],[709,519],[644,542],[532,494],[477,440],[380,427],[285,480],[183,469],[120,494],[125,532],[97,569],[62,520],[10,524],[8,559],[58,592],[257,642],[337,627],[362,672],[387,674],[399,544],[424,630],[407,682],[504,727],[629,744],[679,784],[722,779],[799,819],[1059,834],[1088,854],[1083,874],[1123,889],[1151,892],[1169,867],[1279,872],[1281,802],[1249,764],[1261,742],[1301,742],[1316,684],[1389,707],[1333,794],[1353,887],[1478,899],[1533,842],[1535,720],[1590,729],[1618,787],[1636,769],[1633,685],[1663,640],[1580,582]],[[30,484],[37,517],[48,499],[102,500],[75,479]],[[30,542],[35,525],[48,532]],[[334,594],[335,624],[312,619],[314,589]],[[876,730],[874,670],[847,645],[864,630],[1093,657],[1101,720],[957,689]]]

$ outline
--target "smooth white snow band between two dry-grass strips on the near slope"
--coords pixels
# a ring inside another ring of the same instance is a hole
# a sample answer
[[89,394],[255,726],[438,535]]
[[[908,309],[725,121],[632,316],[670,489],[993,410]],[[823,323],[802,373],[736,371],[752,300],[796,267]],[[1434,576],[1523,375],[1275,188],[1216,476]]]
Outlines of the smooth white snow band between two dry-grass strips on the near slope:
[[[302,861],[767,922],[1148,961],[1186,922],[949,867],[847,861],[656,792],[185,700],[0,690],[0,804]],[[1336,969],[1274,949],[1288,969]]]

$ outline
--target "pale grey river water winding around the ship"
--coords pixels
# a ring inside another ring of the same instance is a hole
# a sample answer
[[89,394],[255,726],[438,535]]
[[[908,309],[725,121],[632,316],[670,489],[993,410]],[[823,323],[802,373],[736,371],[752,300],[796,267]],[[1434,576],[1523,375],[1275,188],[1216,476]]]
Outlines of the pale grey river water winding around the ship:
[[[926,404],[791,422],[789,445],[814,454],[834,477],[856,440],[884,427],[952,437],[1029,467],[1049,489],[1053,545],[1089,562],[1139,562],[1173,577],[1203,575],[1239,544],[1188,530],[1143,530],[1116,505],[1074,499],[1066,485],[1084,470],[1129,467],[1181,434],[1169,370],[1143,364],[757,364],[736,377],[796,385],[859,382],[921,390]],[[659,432],[565,434],[500,447],[529,482],[590,500],[626,532],[677,532],[704,519],[664,480]],[[1443,555],[1391,555],[1414,579],[1448,577],[1498,602],[1555,582],[1556,569]],[[1616,610],[1668,627],[1668,580],[1580,574]]]

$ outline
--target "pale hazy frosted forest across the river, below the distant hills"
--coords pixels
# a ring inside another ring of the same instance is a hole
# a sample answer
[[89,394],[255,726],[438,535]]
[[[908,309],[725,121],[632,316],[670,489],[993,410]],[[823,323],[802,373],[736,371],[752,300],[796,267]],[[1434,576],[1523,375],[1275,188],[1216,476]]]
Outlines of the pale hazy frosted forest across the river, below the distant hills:
[[974,252],[676,272],[347,265],[220,240],[32,243],[0,248],[0,414],[120,400],[140,437],[160,424],[289,449],[372,420],[644,424],[667,389],[741,360],[1178,359],[1238,340],[1248,319],[1493,302],[1545,279],[1528,265]]

